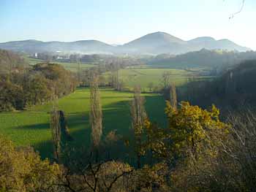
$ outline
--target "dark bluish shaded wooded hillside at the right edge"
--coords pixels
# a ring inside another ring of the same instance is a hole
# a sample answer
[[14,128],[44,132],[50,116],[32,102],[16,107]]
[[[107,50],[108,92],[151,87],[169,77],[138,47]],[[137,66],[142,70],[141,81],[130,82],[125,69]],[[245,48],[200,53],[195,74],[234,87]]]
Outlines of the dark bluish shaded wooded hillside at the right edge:
[[221,77],[205,82],[190,82],[187,96],[202,107],[217,104],[228,108],[254,108],[256,104],[256,60],[244,61],[229,69]]

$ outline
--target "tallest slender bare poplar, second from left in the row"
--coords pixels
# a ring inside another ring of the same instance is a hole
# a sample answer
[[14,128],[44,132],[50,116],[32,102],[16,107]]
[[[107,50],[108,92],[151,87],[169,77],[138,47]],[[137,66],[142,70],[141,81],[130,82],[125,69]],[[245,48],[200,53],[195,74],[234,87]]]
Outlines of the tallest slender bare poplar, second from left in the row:
[[99,143],[102,137],[102,106],[99,97],[98,77],[93,74],[90,82],[90,123],[91,123],[91,147],[98,159]]

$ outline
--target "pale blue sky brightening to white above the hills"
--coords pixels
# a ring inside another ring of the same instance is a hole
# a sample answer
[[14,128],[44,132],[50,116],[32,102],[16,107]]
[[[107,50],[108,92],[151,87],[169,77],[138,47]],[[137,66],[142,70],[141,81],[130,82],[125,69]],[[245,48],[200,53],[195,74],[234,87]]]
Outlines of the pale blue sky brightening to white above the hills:
[[230,39],[256,50],[256,1],[0,0],[0,42],[97,39],[124,44],[156,31]]

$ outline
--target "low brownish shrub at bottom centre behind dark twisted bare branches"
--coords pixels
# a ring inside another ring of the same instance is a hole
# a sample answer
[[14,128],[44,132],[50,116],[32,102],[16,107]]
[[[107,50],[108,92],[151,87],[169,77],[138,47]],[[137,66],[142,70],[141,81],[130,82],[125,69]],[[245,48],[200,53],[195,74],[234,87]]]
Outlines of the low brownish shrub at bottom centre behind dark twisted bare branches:
[[97,164],[89,162],[85,167],[79,164],[76,169],[76,174],[65,169],[61,182],[56,185],[72,192],[110,192],[131,188],[130,176],[134,169],[125,164],[116,161],[102,161]]

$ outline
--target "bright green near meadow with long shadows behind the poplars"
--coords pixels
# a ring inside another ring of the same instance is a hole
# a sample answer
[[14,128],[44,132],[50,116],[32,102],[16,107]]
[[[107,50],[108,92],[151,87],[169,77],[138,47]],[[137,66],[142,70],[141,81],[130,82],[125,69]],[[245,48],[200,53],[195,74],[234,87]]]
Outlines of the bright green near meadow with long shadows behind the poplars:
[[[130,118],[129,100],[132,93],[101,89],[104,135],[111,130],[129,137]],[[157,94],[144,94],[146,110],[152,121],[165,126],[165,101]],[[58,101],[59,109],[65,112],[72,137],[70,145],[89,147],[89,89],[78,89]],[[53,145],[49,128],[49,111],[51,104],[31,107],[20,112],[0,113],[0,134],[11,139],[16,146],[31,145],[39,150],[42,158],[52,156]],[[103,137],[104,139],[104,137]]]

